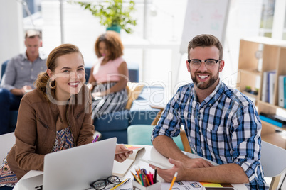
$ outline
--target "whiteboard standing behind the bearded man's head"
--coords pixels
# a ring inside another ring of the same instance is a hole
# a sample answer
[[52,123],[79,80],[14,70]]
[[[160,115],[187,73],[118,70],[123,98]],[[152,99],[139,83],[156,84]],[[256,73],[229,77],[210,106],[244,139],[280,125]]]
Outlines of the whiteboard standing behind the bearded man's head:
[[231,0],[188,0],[180,52],[188,51],[188,44],[198,34],[212,34],[223,41]]

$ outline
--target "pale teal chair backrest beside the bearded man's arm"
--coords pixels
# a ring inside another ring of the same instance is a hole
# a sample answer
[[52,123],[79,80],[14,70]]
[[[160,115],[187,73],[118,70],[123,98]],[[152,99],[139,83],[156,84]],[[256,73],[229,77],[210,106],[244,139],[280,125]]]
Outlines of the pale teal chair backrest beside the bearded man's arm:
[[[127,128],[127,140],[129,145],[152,145],[151,135],[154,125],[130,125]],[[184,150],[180,135],[173,138],[180,150]]]

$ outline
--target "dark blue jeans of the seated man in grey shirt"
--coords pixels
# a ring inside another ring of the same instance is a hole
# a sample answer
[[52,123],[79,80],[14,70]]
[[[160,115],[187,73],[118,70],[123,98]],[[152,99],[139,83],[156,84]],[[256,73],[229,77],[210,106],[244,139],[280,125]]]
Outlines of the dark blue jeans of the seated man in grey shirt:
[[11,132],[9,130],[9,111],[18,110],[22,97],[0,88],[0,135]]

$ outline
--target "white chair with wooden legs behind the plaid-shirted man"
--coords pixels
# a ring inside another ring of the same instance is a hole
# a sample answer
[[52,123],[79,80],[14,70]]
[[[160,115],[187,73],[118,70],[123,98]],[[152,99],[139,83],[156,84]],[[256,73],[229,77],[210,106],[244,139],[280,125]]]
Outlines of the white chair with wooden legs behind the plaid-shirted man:
[[261,164],[264,177],[272,177],[270,190],[277,189],[281,174],[286,172],[286,150],[261,141]]

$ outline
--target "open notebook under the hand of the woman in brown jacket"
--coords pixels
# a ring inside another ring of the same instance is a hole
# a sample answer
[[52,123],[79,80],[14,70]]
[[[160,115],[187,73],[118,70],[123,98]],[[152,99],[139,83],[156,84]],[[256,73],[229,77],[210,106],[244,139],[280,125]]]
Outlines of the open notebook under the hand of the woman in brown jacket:
[[120,163],[114,160],[113,162],[113,169],[112,169],[112,175],[115,175],[117,177],[124,177],[126,172],[128,171],[129,167],[132,166],[133,162],[136,159],[137,153],[139,150],[144,149],[144,146],[134,146],[134,145],[125,145],[129,150],[133,150],[133,154],[129,155],[127,160]]

